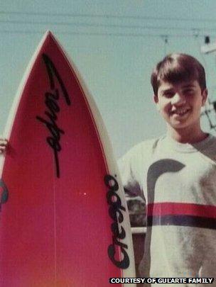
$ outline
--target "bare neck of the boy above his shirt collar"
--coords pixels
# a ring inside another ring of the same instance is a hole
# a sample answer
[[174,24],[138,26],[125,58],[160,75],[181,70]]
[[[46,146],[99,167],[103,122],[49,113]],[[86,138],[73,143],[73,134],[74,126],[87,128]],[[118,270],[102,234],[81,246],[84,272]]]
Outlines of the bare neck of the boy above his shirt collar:
[[171,126],[168,125],[167,133],[170,137],[173,138],[176,142],[181,143],[190,143],[193,144],[195,142],[200,142],[201,140],[205,140],[208,136],[207,133],[202,132],[201,128],[193,128],[193,129],[179,129],[175,130]]

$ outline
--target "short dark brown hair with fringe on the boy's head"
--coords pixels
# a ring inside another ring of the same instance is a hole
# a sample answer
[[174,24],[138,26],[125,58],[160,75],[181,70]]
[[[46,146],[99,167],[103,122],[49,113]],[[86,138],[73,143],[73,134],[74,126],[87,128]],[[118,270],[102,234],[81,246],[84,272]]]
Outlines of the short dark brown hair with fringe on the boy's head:
[[151,85],[157,96],[161,81],[177,84],[180,81],[197,80],[202,91],[206,89],[205,69],[194,57],[173,53],[158,62],[151,74]]

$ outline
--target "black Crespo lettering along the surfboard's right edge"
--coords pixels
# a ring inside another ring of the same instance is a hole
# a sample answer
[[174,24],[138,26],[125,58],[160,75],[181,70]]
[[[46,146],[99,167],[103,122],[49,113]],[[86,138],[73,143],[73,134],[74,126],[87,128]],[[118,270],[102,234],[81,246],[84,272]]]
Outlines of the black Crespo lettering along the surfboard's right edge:
[[[124,240],[126,237],[124,227],[120,225],[124,221],[124,215],[121,211],[125,211],[126,209],[121,205],[121,198],[119,198],[117,194],[119,190],[117,179],[107,174],[104,176],[104,184],[109,188],[109,191],[107,191],[107,203],[109,204],[109,216],[113,220],[111,225],[112,244],[108,247],[108,256],[115,266],[121,269],[127,269],[130,264],[129,255],[126,252],[128,246],[119,241]],[[121,249],[122,259],[115,258],[115,255],[118,254],[118,247]]]

